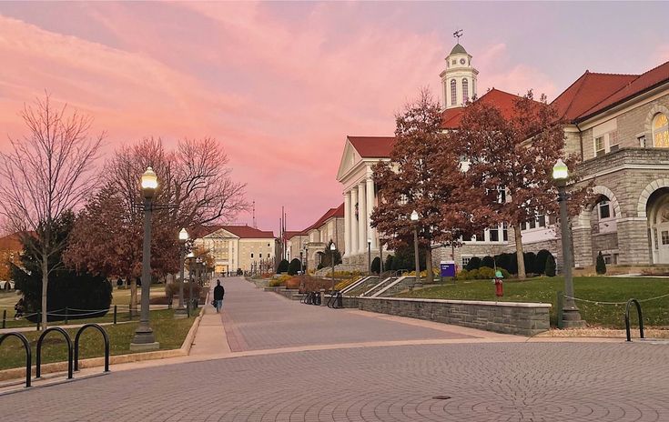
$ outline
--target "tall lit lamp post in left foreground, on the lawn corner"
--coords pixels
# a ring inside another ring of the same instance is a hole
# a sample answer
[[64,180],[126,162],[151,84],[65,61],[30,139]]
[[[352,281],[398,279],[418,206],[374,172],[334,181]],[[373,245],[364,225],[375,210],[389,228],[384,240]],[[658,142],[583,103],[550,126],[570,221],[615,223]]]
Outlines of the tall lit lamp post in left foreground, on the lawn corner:
[[142,196],[144,196],[144,245],[142,248],[142,308],[139,327],[130,343],[130,350],[156,350],[160,347],[149,324],[149,295],[151,292],[151,201],[156,193],[158,179],[151,167],[147,167],[141,178]]

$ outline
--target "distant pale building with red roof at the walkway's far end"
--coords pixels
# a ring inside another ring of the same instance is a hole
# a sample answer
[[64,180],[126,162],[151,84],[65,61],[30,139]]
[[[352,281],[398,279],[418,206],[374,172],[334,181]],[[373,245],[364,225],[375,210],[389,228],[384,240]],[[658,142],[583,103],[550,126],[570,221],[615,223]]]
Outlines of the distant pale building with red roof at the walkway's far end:
[[251,226],[201,226],[193,232],[194,245],[214,258],[217,274],[275,265],[277,239],[271,231]]

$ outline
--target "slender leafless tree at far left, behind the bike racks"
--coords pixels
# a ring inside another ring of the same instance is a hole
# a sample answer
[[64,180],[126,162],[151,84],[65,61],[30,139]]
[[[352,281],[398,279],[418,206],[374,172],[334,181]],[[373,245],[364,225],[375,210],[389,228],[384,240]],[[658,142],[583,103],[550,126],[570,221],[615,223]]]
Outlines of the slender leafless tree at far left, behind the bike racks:
[[49,274],[62,265],[49,258],[66,246],[66,239],[52,236],[53,224],[78,206],[95,184],[93,164],[105,134],[89,136],[93,118],[70,112],[67,106],[57,108],[48,94],[24,106],[21,117],[27,135],[10,137],[10,151],[0,153],[0,215],[41,261],[46,327]]

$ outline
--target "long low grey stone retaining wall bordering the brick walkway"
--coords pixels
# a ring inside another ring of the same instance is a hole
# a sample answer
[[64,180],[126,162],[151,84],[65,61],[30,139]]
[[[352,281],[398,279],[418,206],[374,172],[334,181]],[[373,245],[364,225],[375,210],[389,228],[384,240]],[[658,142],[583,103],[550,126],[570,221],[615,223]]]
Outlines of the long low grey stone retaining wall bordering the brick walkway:
[[[344,298],[344,306],[363,311],[478,328],[497,333],[534,336],[551,327],[550,304],[481,302],[398,297]],[[356,303],[357,302],[357,303]]]

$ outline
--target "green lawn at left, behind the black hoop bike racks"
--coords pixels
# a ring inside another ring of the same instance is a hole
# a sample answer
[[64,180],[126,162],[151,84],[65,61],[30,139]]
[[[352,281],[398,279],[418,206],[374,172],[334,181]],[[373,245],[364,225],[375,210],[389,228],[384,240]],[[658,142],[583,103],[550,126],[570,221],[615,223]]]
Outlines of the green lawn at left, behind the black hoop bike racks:
[[[193,325],[193,320],[198,313],[190,318],[174,319],[174,311],[166,309],[151,313],[151,327],[156,335],[156,341],[160,343],[161,350],[169,350],[181,347],[188,335],[188,330]],[[130,351],[130,342],[135,335],[138,322],[119,324],[117,326],[105,326],[109,336],[109,352],[111,355],[125,355],[133,353]],[[76,329],[67,330],[74,342]],[[23,333],[30,341],[33,350],[33,365],[35,365],[35,353],[37,338],[41,334],[38,331]],[[102,336],[93,328],[86,332],[79,340],[79,357],[102,357],[105,355]],[[15,337],[7,338],[2,344],[0,354],[0,369],[10,367],[23,367],[25,365],[25,352],[22,343]],[[67,347],[65,339],[58,333],[49,333],[42,345],[42,362],[59,362],[67,360]]]

